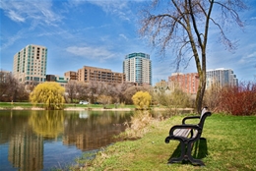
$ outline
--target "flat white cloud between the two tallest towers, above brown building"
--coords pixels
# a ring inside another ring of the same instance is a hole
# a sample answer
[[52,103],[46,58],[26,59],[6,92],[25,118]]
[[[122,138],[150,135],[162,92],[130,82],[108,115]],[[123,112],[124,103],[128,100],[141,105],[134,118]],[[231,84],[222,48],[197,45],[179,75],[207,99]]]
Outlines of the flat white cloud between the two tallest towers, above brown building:
[[66,48],[66,50],[77,56],[100,60],[100,62],[104,61],[105,59],[113,58],[115,56],[114,53],[110,52],[105,47],[70,46]]

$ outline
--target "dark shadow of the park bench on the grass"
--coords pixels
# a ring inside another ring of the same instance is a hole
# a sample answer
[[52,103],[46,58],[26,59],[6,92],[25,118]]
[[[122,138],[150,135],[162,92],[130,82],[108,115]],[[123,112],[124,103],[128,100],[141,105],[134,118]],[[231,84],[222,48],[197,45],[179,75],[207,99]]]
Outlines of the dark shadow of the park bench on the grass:
[[[208,155],[207,140],[205,138],[200,138],[199,141],[194,142],[191,154],[192,154],[193,158],[196,158],[196,159],[205,158]],[[180,143],[179,143],[168,160],[170,160],[171,158],[178,158],[178,157],[180,157],[180,155],[181,155],[181,148],[180,148]],[[186,160],[182,160],[181,163],[188,164],[190,162],[186,161]]]

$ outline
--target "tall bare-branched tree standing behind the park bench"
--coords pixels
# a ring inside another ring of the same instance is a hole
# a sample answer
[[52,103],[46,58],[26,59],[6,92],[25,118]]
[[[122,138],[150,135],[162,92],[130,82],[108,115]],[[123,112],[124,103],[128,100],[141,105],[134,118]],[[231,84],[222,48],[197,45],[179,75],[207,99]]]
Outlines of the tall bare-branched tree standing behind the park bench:
[[176,70],[194,58],[200,80],[196,96],[199,113],[206,88],[210,28],[220,31],[220,40],[227,49],[234,49],[224,30],[233,24],[242,28],[238,12],[246,8],[243,0],[153,0],[151,6],[142,10],[141,35],[149,37],[162,55],[172,50]]

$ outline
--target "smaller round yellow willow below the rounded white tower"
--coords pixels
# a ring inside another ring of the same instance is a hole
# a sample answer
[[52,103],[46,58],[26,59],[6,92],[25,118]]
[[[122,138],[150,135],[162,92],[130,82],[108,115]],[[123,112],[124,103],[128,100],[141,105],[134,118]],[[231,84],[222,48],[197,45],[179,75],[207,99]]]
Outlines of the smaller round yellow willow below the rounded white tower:
[[152,96],[147,91],[138,91],[132,96],[132,100],[138,109],[148,109],[151,105]]

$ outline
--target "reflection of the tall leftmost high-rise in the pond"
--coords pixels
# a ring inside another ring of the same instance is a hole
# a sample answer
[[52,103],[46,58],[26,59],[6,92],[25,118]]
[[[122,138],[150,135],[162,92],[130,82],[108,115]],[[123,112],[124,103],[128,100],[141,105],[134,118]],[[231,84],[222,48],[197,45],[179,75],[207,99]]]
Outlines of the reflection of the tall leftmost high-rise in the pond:
[[12,137],[9,145],[8,160],[19,170],[41,170],[43,168],[43,139],[32,133]]

